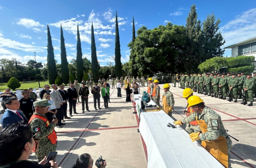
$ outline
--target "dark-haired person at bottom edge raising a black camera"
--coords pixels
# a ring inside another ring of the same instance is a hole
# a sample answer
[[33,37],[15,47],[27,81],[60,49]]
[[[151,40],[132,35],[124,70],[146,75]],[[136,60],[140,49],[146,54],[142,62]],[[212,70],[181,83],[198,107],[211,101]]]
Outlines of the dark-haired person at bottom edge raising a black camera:
[[[84,153],[77,158],[76,164],[74,164],[72,168],[92,168],[92,165],[93,160],[91,155],[89,155],[88,153]],[[103,163],[101,162],[100,168],[105,168],[106,165],[106,161],[104,161]]]

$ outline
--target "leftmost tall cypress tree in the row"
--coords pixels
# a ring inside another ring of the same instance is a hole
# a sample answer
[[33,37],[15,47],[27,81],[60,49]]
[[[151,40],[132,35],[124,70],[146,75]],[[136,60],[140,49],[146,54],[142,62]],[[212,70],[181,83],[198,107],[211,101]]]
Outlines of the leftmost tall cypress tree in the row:
[[54,59],[54,52],[52,46],[52,37],[50,33],[49,26],[47,25],[47,71],[49,84],[52,85],[55,83],[55,78],[57,76],[56,63]]

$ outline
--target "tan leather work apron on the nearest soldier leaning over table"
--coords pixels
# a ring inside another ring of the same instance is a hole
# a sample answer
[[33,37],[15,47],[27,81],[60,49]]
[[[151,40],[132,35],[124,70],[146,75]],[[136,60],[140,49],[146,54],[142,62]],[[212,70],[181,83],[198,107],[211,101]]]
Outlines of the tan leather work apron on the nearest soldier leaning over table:
[[[208,125],[204,120],[198,120],[196,116],[196,121],[201,128],[202,133],[207,132]],[[228,147],[226,138],[219,136],[213,141],[202,141],[201,145],[216,158],[224,167],[228,167]]]

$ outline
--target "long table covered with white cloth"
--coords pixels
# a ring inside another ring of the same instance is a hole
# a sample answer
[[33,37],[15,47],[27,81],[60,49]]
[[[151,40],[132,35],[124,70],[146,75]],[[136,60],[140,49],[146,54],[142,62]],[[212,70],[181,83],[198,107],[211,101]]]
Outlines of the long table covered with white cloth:
[[[136,104],[140,104],[138,97],[135,99]],[[139,131],[147,146],[148,168],[223,167],[199,143],[192,142],[179,125],[167,127],[173,121],[163,110],[143,112],[140,109]]]

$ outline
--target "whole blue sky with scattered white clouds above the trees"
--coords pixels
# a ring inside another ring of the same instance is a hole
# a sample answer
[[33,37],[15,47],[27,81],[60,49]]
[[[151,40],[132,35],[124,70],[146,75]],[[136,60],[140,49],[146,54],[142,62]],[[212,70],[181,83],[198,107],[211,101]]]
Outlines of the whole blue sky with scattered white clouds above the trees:
[[[91,22],[94,25],[97,57],[101,66],[113,62],[115,12],[119,22],[122,63],[129,61],[127,44],[132,39],[132,18],[136,31],[141,26],[153,29],[167,21],[185,25],[192,4],[198,19],[208,14],[220,18],[220,31],[229,46],[256,37],[256,1],[79,1],[45,0],[0,2],[0,58],[17,58],[23,63],[34,59],[47,62],[47,27],[50,27],[55,59],[60,63],[60,24],[62,24],[67,60],[76,58],[76,25],[79,23],[83,56],[91,60]],[[226,49],[224,56],[231,55]]]

